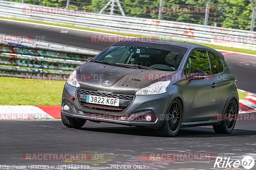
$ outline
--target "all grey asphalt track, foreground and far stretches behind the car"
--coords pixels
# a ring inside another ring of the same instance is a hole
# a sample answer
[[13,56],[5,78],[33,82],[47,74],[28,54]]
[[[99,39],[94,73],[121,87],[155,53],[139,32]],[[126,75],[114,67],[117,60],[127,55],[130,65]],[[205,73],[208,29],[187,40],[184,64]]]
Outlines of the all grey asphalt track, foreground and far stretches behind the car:
[[[94,33],[73,30],[60,33],[61,30],[68,29],[0,20],[2,34],[45,36],[46,41],[95,50],[103,50],[112,44],[89,42],[87,37],[95,35]],[[225,60],[237,79],[238,88],[256,93],[256,58],[248,55],[225,55]],[[89,165],[90,169],[111,169],[111,165],[146,165],[147,169],[203,170],[213,169],[215,159],[168,162],[166,159],[148,161],[145,156],[149,153],[210,153],[223,158],[230,156],[230,159],[236,160],[250,155],[256,160],[255,145],[255,121],[237,121],[235,130],[230,135],[216,134],[211,126],[206,126],[183,128],[175,138],[159,137],[151,129],[88,121],[79,130],[66,128],[58,120],[0,122],[0,165],[10,166]],[[22,155],[26,153],[87,153],[92,159],[24,160]],[[240,169],[244,169],[243,166]]]

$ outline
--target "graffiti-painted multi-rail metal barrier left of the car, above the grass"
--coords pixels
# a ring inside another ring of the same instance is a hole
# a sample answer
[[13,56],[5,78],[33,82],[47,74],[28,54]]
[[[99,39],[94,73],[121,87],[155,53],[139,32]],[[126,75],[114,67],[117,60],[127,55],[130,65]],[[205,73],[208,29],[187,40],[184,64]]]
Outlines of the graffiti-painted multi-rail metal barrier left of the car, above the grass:
[[[86,49],[87,50],[87,49]],[[89,50],[88,50],[89,51]],[[97,55],[54,48],[0,43],[0,75],[21,78],[67,80],[70,71]]]

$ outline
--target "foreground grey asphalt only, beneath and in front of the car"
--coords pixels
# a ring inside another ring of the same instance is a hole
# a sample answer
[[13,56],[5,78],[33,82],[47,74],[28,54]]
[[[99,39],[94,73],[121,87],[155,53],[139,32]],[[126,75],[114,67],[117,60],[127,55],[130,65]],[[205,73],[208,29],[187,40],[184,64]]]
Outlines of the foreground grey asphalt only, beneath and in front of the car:
[[[163,161],[148,161],[143,156],[205,153],[230,156],[232,160],[242,160],[245,155],[256,158],[255,121],[238,121],[230,135],[216,134],[209,126],[183,128],[175,138],[158,137],[151,129],[107,123],[86,122],[79,130],[66,128],[61,121],[0,123],[0,165],[89,165],[92,169],[110,169],[111,165],[136,164],[150,167],[147,169],[208,170],[213,168],[215,159],[168,162],[164,157]],[[87,153],[92,160],[24,160],[22,155],[26,153]],[[100,154],[99,160],[95,155]]]

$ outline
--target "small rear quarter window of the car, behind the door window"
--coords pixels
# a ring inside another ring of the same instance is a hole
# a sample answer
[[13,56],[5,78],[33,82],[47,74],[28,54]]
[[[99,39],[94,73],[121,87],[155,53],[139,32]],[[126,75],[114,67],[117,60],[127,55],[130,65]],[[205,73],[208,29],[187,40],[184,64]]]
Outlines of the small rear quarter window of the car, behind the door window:
[[211,62],[212,74],[219,74],[223,72],[223,61],[215,53],[208,51],[208,55]]

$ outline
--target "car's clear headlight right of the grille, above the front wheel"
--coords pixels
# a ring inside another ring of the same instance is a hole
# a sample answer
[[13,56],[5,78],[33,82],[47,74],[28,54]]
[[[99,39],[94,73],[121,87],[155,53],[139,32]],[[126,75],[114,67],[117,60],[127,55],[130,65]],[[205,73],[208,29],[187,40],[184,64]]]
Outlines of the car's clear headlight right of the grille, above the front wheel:
[[139,89],[135,95],[156,95],[156,94],[162,94],[166,92],[166,88],[171,83],[170,80],[168,81],[158,81],[156,83],[153,83],[149,85],[148,87],[144,87],[142,89]]

